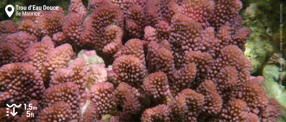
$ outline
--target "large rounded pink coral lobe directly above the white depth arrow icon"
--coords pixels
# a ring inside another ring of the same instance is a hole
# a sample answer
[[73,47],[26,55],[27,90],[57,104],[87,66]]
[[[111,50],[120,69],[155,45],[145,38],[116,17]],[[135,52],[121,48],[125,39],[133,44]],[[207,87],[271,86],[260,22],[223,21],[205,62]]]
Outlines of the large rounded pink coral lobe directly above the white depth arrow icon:
[[1,106],[8,101],[17,105],[41,99],[43,81],[37,69],[29,63],[9,63],[0,68]]

